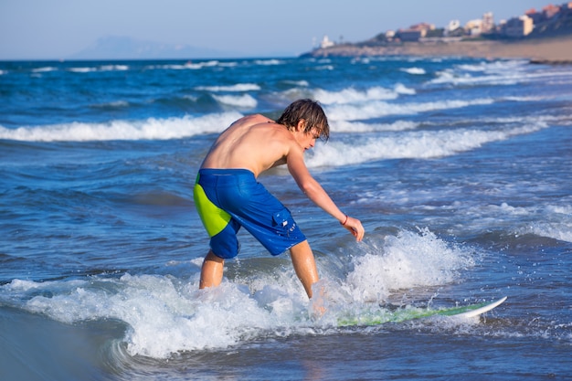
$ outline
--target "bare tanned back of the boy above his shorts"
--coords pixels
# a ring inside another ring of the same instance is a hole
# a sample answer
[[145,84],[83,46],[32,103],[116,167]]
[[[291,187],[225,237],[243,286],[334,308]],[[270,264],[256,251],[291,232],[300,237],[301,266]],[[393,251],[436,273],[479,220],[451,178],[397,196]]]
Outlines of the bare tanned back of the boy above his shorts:
[[243,168],[255,176],[286,163],[291,149],[302,147],[281,124],[260,114],[239,119],[222,132],[201,168]]

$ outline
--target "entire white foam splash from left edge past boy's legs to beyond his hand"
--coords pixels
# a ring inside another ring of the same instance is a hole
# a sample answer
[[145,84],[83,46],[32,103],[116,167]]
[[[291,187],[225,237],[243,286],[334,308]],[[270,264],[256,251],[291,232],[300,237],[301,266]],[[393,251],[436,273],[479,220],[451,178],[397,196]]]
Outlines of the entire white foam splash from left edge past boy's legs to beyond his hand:
[[[364,254],[351,259],[353,270],[321,282],[325,288],[321,298],[327,305],[351,302],[352,312],[366,310],[370,302],[377,306],[399,290],[448,284],[474,263],[470,249],[452,246],[428,229],[372,238],[364,248]],[[258,266],[256,261],[250,264]],[[325,319],[312,320],[312,306],[291,266],[255,274],[249,279],[225,279],[217,288],[203,291],[197,290],[198,272],[190,280],[144,274],[13,280],[0,286],[0,302],[17,300],[27,311],[64,323],[120,320],[129,326],[122,338],[128,353],[155,358],[228,348],[269,334],[313,334],[323,324],[335,325],[344,313],[332,308]]]

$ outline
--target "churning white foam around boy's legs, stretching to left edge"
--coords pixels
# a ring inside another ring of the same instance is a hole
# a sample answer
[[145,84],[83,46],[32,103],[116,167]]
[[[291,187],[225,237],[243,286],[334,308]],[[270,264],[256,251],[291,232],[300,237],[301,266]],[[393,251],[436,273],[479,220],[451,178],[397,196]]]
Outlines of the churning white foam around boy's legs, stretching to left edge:
[[167,358],[181,351],[228,348],[272,332],[303,333],[310,322],[308,299],[293,270],[284,272],[288,275],[278,280],[258,275],[251,280],[254,291],[228,280],[199,291],[198,274],[194,280],[130,274],[120,279],[13,280],[0,286],[0,301],[9,295],[27,311],[63,323],[120,320],[129,325],[122,338],[129,355]]

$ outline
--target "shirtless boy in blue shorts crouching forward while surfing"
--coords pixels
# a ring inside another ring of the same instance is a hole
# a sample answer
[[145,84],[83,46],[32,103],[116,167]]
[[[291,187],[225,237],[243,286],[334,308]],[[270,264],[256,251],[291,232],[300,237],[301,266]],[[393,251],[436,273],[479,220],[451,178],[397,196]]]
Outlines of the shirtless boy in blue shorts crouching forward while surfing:
[[312,284],[319,280],[312,249],[290,211],[257,182],[262,172],[277,165],[286,164],[302,192],[357,241],[364,238],[362,223],[334,204],[304,164],[304,151],[329,134],[322,107],[312,100],[299,100],[276,122],[260,114],[246,116],[218,136],[196,176],[194,190],[196,209],[210,236],[200,289],[220,284],[224,260],[238,255],[237,232],[244,227],[274,256],[290,249],[296,275],[312,298]]

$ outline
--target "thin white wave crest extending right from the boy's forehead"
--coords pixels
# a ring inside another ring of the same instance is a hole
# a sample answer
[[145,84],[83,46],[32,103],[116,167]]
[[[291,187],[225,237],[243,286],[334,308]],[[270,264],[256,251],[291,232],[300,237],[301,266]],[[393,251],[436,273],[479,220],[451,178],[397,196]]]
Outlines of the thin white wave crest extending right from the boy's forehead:
[[334,104],[327,107],[328,119],[332,121],[355,121],[380,118],[387,115],[408,115],[435,110],[461,109],[464,107],[492,104],[493,99],[472,101],[435,101],[425,103],[388,103],[368,101],[363,104]]

